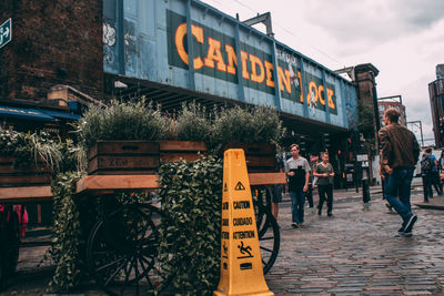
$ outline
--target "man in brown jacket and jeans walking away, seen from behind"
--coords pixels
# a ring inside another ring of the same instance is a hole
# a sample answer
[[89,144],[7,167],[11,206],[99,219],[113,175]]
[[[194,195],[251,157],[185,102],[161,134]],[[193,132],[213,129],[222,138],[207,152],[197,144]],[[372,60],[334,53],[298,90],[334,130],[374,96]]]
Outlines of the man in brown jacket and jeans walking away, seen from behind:
[[385,126],[380,130],[382,165],[386,172],[384,192],[385,198],[403,220],[397,236],[412,236],[417,216],[412,213],[410,195],[420,145],[415,135],[397,123],[398,118],[396,109],[387,109]]

